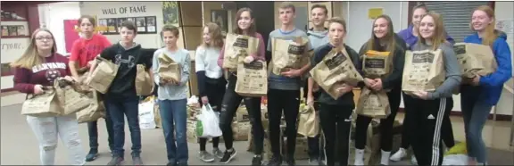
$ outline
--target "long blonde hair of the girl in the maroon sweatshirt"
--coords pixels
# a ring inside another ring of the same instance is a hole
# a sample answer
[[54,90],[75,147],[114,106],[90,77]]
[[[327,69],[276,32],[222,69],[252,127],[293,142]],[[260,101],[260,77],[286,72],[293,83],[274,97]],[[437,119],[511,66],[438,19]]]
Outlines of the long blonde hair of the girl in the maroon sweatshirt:
[[26,69],[32,69],[32,67],[44,63],[45,58],[39,56],[39,53],[37,52],[37,46],[36,46],[36,35],[40,31],[46,31],[50,33],[50,36],[52,36],[52,42],[54,42],[54,45],[52,46],[52,54],[55,54],[57,52],[57,46],[55,45],[55,37],[54,34],[49,29],[46,28],[40,28],[34,30],[34,33],[32,33],[32,36],[30,37],[30,44],[25,50],[25,53],[21,54],[21,57],[11,62],[12,68],[26,68]]

